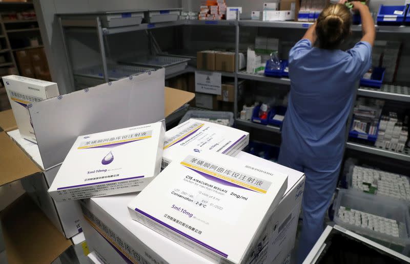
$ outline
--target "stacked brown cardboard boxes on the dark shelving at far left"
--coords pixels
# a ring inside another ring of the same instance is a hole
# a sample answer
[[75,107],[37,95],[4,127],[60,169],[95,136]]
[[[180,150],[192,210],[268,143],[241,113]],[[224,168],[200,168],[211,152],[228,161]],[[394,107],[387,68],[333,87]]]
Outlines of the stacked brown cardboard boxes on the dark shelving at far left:
[[51,81],[46,54],[43,48],[16,51],[20,75]]

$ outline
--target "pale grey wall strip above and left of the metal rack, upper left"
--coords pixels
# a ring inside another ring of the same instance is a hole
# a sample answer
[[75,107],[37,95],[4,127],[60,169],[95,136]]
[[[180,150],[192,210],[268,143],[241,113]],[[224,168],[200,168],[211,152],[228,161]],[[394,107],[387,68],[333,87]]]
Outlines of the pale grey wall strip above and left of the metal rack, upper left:
[[40,32],[42,34],[50,73],[57,82],[60,94],[74,91],[68,70],[68,61],[55,18],[57,13],[84,13],[136,9],[180,8],[181,0],[35,0]]

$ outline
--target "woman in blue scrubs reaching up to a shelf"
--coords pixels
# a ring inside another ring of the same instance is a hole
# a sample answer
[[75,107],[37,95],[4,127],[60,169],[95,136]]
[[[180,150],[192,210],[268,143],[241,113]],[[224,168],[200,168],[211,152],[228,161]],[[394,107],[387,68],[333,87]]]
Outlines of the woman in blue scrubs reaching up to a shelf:
[[351,34],[352,17],[345,2],[323,10],[289,54],[291,91],[279,163],[306,175],[299,263],[323,232],[324,215],[339,176],[355,89],[371,68],[376,31],[368,7],[360,2],[352,4],[362,18],[362,39],[351,50],[340,50]]

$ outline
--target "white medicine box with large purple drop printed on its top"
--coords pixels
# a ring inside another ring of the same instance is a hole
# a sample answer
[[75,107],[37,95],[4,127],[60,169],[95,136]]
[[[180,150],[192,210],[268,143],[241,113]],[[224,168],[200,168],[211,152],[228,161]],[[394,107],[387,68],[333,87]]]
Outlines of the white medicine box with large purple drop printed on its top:
[[57,202],[141,191],[159,173],[161,122],[79,136],[49,189]]

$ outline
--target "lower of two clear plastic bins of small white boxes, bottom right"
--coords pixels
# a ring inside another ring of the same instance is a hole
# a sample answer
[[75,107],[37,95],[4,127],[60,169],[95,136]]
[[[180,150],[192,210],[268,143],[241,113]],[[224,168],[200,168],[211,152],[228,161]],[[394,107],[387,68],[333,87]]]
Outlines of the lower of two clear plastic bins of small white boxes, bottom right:
[[[383,234],[342,221],[338,215],[340,206],[397,221],[399,223],[399,237]],[[408,231],[410,230],[408,204],[383,196],[341,189],[338,192],[333,208],[335,209],[334,222],[337,225],[361,235],[384,241],[385,246],[389,248],[397,249],[397,246],[400,246],[399,248],[402,250],[402,253],[408,250],[408,246],[410,245],[408,235]]]

